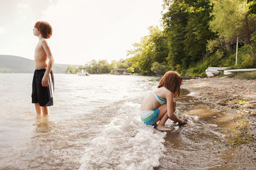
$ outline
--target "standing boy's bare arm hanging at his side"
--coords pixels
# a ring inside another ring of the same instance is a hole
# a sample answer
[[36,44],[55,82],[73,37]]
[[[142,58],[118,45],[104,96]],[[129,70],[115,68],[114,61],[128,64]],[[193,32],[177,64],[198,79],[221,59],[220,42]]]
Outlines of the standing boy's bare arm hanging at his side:
[[42,86],[47,87],[49,85],[48,77],[49,77],[49,74],[52,70],[52,65],[54,63],[54,59],[52,57],[52,52],[51,52],[50,47],[49,47],[46,40],[42,40],[42,47],[43,47],[43,49],[44,49],[44,51],[45,51],[45,53],[46,53],[46,55],[49,59],[47,68],[46,68],[45,73],[44,73],[44,77],[42,79]]

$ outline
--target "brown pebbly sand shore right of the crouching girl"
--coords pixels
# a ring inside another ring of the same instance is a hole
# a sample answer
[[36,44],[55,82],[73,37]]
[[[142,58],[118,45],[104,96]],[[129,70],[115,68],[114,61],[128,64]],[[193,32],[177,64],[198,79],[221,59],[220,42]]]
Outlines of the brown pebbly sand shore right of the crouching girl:
[[[250,138],[249,141],[244,140],[245,144],[230,146],[236,151],[233,153],[235,154],[233,155],[234,159],[227,164],[239,164],[242,160],[256,163],[256,80],[239,80],[228,77],[191,79],[186,81],[182,88],[189,89],[191,95],[211,104],[215,109],[236,116],[237,120],[233,119],[232,121],[237,123],[237,127],[232,129],[235,129],[237,134],[247,136],[243,139]],[[222,120],[218,121],[221,123]],[[243,127],[241,127],[242,125]],[[250,169],[250,167],[244,168]]]

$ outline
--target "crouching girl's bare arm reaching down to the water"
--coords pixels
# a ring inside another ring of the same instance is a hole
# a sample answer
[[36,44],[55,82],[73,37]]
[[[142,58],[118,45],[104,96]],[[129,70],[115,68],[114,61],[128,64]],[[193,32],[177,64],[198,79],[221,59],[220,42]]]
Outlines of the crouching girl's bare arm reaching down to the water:
[[166,100],[167,100],[167,103],[166,103],[167,115],[170,118],[170,120],[172,120],[174,122],[179,122],[179,123],[186,123],[186,121],[180,120],[179,118],[177,118],[173,112],[173,94],[172,94],[172,92],[170,92],[170,94],[168,94],[166,96]]

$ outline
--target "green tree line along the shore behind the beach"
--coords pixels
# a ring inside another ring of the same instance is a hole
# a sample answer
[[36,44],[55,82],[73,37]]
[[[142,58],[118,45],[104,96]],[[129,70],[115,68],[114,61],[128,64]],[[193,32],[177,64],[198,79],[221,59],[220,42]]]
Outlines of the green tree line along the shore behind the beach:
[[[91,61],[90,73],[133,68],[143,75],[175,70],[205,75],[209,66],[255,68],[255,0],[163,0],[161,23],[134,43],[127,59]],[[238,60],[236,65],[236,43]],[[97,66],[96,66],[97,65]]]

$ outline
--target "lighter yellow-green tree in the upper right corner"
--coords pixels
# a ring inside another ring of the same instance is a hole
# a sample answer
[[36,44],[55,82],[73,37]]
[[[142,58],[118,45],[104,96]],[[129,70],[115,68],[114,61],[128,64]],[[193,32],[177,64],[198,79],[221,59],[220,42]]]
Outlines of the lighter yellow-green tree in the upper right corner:
[[[249,45],[255,66],[256,56],[253,49],[252,35],[255,31],[255,15],[250,14],[250,6],[247,0],[212,0],[214,19],[210,25],[220,38],[232,42],[239,37],[240,42]],[[250,14],[250,15],[249,15]]]

